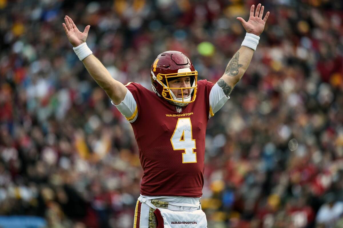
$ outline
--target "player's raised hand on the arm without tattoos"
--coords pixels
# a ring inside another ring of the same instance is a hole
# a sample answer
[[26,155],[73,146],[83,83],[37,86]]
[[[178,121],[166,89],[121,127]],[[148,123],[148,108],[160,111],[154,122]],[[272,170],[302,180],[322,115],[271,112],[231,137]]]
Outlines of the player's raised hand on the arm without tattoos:
[[77,47],[80,44],[86,42],[88,31],[91,27],[90,25],[87,25],[85,30],[83,32],[80,32],[69,16],[64,17],[64,21],[66,22],[66,24],[62,23],[64,31],[66,32],[69,42],[74,47]]

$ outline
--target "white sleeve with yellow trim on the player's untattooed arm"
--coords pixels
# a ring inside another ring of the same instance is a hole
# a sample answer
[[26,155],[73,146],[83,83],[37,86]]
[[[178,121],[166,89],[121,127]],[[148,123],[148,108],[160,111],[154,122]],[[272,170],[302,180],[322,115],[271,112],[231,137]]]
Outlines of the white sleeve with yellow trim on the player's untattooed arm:
[[138,108],[136,100],[134,99],[130,90],[127,90],[125,98],[119,105],[115,105],[111,100],[111,103],[116,106],[120,113],[130,122],[133,123],[138,117]]

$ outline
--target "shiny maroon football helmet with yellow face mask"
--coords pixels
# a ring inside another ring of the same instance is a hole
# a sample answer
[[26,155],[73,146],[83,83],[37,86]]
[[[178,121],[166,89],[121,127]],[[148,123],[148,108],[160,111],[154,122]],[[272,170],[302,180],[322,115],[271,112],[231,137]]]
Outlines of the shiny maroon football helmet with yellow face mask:
[[[191,86],[171,88],[169,81],[180,77],[190,77]],[[194,69],[189,58],[178,51],[166,51],[157,56],[151,65],[151,84],[154,92],[170,103],[186,106],[194,102],[197,93],[198,71]],[[181,89],[182,97],[178,98],[171,89]],[[190,89],[190,94],[184,97],[184,90]]]

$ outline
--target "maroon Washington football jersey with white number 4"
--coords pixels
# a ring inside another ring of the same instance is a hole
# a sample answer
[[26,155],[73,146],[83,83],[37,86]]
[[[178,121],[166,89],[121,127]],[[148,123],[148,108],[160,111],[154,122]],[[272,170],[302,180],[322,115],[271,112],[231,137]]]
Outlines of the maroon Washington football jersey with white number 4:
[[205,132],[213,85],[207,80],[198,81],[195,101],[184,107],[170,104],[138,83],[126,86],[138,108],[138,117],[131,125],[144,171],[142,195],[202,196]]

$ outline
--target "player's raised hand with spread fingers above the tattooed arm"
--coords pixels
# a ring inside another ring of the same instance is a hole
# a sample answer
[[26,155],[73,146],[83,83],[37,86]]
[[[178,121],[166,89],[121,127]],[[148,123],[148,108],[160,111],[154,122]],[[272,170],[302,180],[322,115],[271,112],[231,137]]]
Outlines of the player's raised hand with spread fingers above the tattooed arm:
[[248,33],[253,33],[257,36],[260,36],[261,33],[263,32],[265,22],[268,19],[269,11],[265,14],[262,20],[264,6],[262,5],[261,7],[261,3],[257,5],[255,16],[254,16],[254,8],[255,8],[255,5],[252,5],[250,8],[250,16],[249,16],[248,22],[244,21],[244,19],[241,17],[237,17],[237,20],[240,21],[240,23],[242,23],[244,29]]

